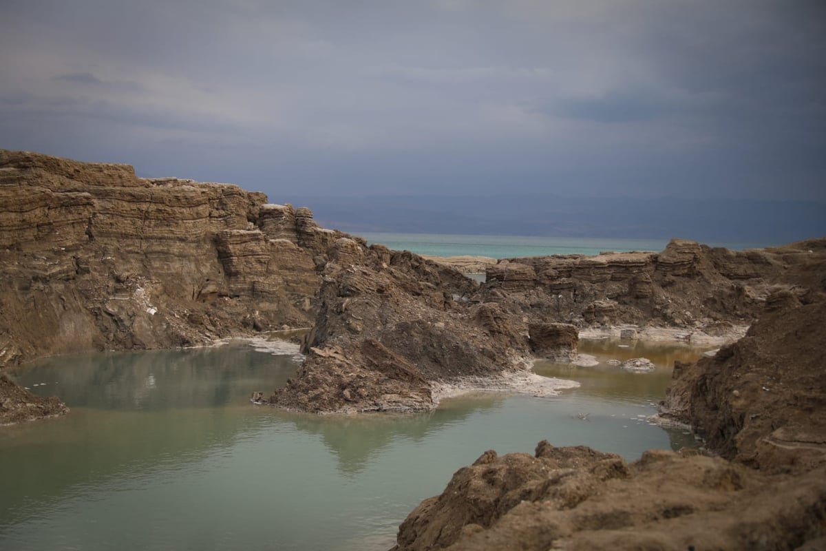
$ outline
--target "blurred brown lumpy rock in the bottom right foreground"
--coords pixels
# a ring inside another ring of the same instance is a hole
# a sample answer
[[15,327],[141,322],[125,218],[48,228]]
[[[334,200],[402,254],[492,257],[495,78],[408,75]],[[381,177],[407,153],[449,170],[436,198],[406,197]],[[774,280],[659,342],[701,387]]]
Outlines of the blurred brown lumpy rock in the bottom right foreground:
[[422,501],[393,551],[803,549],[826,529],[824,475],[770,476],[670,451],[628,465],[547,442],[534,456],[488,451]]

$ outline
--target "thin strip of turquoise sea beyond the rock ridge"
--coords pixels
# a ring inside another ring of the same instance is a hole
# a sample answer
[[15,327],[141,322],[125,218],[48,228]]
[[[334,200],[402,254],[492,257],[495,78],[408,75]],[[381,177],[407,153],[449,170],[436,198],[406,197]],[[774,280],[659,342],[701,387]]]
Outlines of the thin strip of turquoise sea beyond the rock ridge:
[[[433,256],[488,256],[507,259],[548,254],[600,254],[601,251],[665,249],[668,240],[636,240],[591,237],[535,237],[525,235],[444,235],[361,233],[370,243],[387,245],[391,249],[409,250],[415,254]],[[752,249],[768,244],[719,242],[705,243],[728,249]]]

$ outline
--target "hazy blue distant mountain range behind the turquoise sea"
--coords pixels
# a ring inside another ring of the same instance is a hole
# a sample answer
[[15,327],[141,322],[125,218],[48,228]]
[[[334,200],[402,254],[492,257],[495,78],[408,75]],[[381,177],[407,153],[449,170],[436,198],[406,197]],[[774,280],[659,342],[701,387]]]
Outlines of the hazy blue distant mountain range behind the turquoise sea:
[[826,203],[628,197],[284,195],[322,226],[358,232],[548,235],[782,244],[826,235]]

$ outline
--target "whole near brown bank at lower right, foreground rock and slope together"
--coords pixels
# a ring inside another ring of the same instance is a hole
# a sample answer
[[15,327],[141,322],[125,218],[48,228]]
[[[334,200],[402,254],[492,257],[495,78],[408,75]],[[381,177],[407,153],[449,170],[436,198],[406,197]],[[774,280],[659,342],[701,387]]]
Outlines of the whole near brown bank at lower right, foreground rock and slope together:
[[822,549],[826,302],[771,302],[742,340],[678,366],[664,403],[722,457],[488,451],[411,512],[395,551]]

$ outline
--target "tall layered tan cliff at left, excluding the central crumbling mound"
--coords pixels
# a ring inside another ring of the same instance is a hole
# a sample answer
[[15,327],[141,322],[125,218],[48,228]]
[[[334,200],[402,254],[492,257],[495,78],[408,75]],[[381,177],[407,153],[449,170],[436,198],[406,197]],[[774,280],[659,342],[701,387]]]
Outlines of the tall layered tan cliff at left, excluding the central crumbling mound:
[[20,151],[0,204],[0,367],[309,326],[336,235],[233,185]]

